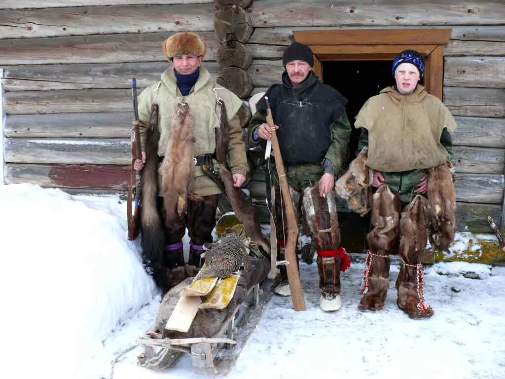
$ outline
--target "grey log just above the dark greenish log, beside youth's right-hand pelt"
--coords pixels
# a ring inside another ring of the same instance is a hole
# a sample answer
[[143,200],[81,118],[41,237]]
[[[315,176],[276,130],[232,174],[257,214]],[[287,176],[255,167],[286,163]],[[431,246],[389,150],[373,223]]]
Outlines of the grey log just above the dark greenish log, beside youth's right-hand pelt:
[[458,174],[455,188],[457,201],[501,205],[503,175]]

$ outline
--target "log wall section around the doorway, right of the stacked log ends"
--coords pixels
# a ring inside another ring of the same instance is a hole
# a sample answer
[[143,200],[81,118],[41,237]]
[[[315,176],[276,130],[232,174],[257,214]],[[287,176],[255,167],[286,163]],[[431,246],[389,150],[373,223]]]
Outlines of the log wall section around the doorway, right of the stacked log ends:
[[[385,0],[256,0],[246,9],[254,30],[245,43],[250,94],[280,82],[284,49],[293,30],[452,28],[444,48],[444,103],[458,122],[453,133],[457,167],[458,229],[490,231],[491,215],[503,229],[505,168],[505,7],[502,0],[466,3]],[[263,173],[249,183],[262,214]]]

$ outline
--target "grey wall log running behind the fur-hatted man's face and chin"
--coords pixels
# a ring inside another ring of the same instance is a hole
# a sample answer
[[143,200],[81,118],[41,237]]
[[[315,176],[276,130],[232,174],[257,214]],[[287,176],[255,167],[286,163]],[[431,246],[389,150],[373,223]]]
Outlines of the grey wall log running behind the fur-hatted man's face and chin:
[[[205,62],[216,80],[220,70],[217,62]],[[47,89],[83,88],[130,88],[131,78],[136,78],[137,86],[145,88],[155,81],[170,62],[98,63],[67,65],[27,65],[6,66],[3,86],[7,91],[29,91]]]

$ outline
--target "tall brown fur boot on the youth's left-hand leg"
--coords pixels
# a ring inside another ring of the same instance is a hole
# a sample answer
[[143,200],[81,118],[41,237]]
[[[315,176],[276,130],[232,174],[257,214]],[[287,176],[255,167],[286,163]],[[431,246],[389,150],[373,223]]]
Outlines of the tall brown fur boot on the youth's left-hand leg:
[[400,201],[385,184],[373,196],[371,222],[368,233],[370,248],[364,271],[363,298],[358,309],[380,310],[384,306],[389,287],[389,254],[398,236]]

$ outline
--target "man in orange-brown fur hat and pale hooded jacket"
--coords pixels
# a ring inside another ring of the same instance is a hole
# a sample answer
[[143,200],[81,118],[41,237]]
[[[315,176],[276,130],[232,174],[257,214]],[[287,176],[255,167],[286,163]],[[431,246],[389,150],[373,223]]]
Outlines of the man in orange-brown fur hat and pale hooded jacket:
[[[216,107],[218,101],[224,102],[229,124],[230,142],[227,157],[232,173],[233,185],[240,187],[245,181],[248,171],[245,156],[245,145],[242,137],[237,111],[242,101],[228,89],[216,85],[211,80],[209,71],[202,66],[207,52],[205,40],[197,34],[180,32],[163,41],[163,52],[172,65],[163,72],[161,80],[147,87],[139,96],[139,119],[143,123],[149,121],[151,105],[158,104],[158,128],[160,139],[158,156],[161,162],[171,159],[165,156],[167,145],[171,137],[172,119],[181,104],[189,107],[192,116],[194,178],[189,183],[189,191],[194,195],[188,200],[187,212],[180,216],[180,220],[173,225],[165,225],[166,247],[163,256],[164,268],[173,269],[184,266],[182,238],[187,226],[190,241],[189,265],[200,267],[202,245],[212,242],[212,229],[215,226],[219,186],[206,176],[201,165],[212,159],[216,149],[215,129],[220,127]],[[143,134],[143,128],[141,129]],[[141,169],[145,157],[136,160],[135,169]],[[178,164],[178,162],[174,162]],[[159,170],[159,174],[162,172]],[[158,180],[161,185],[161,178]],[[159,194],[161,196],[161,194]],[[196,200],[195,200],[196,199]],[[159,198],[158,211],[163,215],[163,200]],[[145,207],[144,207],[145,208]],[[142,212],[147,211],[142,209]],[[160,267],[160,265],[158,265]],[[163,282],[163,274],[160,283]],[[160,287],[166,285],[160,284]]]

